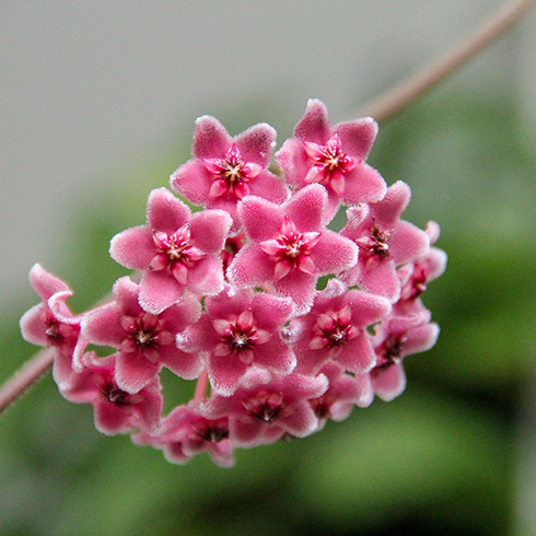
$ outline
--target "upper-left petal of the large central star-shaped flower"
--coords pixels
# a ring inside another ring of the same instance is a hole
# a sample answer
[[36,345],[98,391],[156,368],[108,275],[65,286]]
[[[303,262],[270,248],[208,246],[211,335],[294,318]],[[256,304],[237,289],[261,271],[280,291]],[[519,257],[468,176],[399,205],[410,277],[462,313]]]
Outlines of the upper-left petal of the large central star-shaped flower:
[[261,197],[247,196],[238,203],[238,218],[255,242],[279,236],[283,223],[281,208]]

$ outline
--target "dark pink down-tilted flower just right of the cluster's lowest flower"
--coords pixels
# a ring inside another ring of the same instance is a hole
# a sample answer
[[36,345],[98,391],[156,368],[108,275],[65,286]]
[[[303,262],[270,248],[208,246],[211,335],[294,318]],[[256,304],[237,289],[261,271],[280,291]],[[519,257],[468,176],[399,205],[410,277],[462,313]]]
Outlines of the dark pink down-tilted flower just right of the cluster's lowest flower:
[[327,388],[324,375],[273,375],[249,369],[230,397],[213,395],[200,406],[208,419],[229,417],[229,436],[236,446],[273,443],[286,433],[303,438],[318,427],[308,400]]

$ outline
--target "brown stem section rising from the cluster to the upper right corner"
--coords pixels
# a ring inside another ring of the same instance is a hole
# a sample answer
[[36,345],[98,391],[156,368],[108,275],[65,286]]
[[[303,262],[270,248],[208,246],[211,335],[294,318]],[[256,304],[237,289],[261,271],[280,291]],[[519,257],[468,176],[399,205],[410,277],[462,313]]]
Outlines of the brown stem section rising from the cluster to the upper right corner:
[[371,116],[378,123],[387,121],[504,34],[535,4],[536,0],[506,2],[453,49],[363,106],[358,117]]

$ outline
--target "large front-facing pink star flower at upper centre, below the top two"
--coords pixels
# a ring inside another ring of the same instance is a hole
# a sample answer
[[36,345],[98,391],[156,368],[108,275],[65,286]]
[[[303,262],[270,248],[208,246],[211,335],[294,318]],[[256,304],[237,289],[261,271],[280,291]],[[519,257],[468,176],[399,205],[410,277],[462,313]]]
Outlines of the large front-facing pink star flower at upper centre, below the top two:
[[326,198],[319,185],[301,189],[282,206],[244,198],[238,213],[248,241],[228,269],[230,282],[266,286],[290,296],[295,314],[308,311],[318,277],[350,268],[358,254],[351,241],[323,225]]

